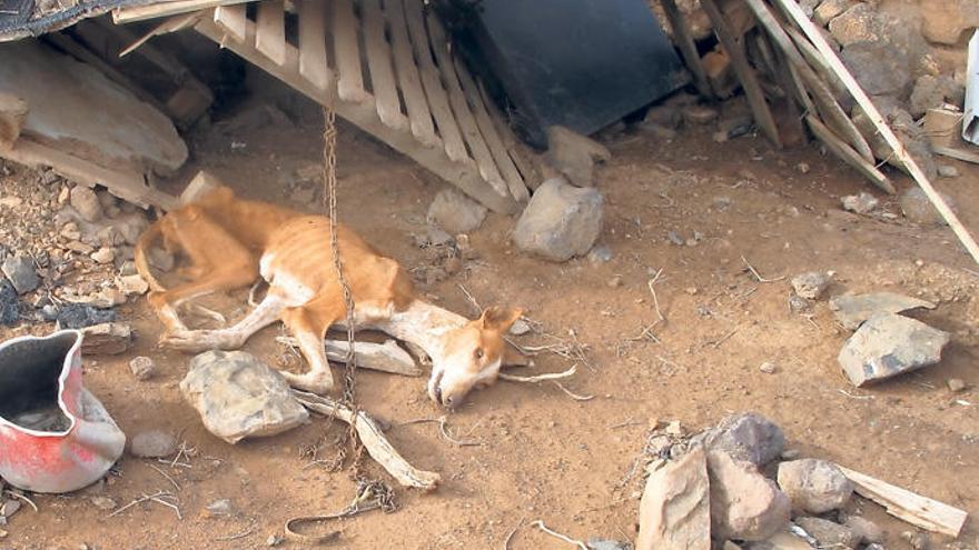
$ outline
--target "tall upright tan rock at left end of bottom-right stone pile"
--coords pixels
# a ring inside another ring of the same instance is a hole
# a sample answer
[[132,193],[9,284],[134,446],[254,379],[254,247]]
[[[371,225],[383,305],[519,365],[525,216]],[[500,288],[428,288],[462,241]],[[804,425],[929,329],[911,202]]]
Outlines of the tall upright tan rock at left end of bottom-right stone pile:
[[635,549],[710,550],[710,506],[706,456],[698,447],[646,479]]

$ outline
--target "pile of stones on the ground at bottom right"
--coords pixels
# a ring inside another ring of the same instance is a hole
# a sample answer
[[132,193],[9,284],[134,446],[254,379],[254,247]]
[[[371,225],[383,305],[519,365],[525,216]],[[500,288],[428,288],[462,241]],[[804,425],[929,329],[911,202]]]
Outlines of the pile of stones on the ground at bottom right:
[[882,548],[884,531],[848,506],[854,483],[844,470],[785,450],[764,417],[670,432],[647,440],[636,550]]

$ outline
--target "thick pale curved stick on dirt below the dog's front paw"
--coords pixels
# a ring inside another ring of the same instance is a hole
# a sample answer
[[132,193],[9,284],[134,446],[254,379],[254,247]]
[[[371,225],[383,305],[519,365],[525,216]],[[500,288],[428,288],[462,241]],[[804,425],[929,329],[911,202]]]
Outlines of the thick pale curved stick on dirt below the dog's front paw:
[[390,473],[402,486],[414,487],[426,491],[434,490],[438,487],[442,477],[435,472],[418,470],[409,464],[408,461],[402,458],[394,447],[390,446],[387,438],[384,437],[384,431],[377,426],[377,422],[363,410],[357,411],[357,418],[355,421],[354,411],[352,411],[349,407],[334,401],[330,398],[298,390],[293,390],[293,394],[307,409],[327,417],[334,417],[348,424],[353,424],[357,430],[357,436],[360,438],[360,442],[364,443],[364,448],[367,449],[367,453],[370,454],[377,463],[384,467],[384,469],[387,470],[387,472]]

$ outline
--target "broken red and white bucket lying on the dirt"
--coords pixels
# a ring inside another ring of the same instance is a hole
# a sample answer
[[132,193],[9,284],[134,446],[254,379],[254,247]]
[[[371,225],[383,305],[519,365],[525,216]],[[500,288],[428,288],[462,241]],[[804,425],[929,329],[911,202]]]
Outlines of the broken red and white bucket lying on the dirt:
[[0,477],[33,492],[59,493],[98,481],[126,436],[81,383],[77,330],[0,343]]

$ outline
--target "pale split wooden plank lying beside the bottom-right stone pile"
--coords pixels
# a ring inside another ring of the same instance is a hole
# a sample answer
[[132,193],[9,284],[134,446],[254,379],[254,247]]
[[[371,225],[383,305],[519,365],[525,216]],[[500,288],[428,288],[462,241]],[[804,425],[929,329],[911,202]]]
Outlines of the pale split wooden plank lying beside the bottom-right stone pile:
[[914,527],[958,538],[962,532],[968,513],[965,510],[921,497],[907,489],[894,487],[879,479],[871,478],[847,468],[840,467],[843,474],[853,482],[857,494],[868,498],[887,508],[888,513],[900,518]]

